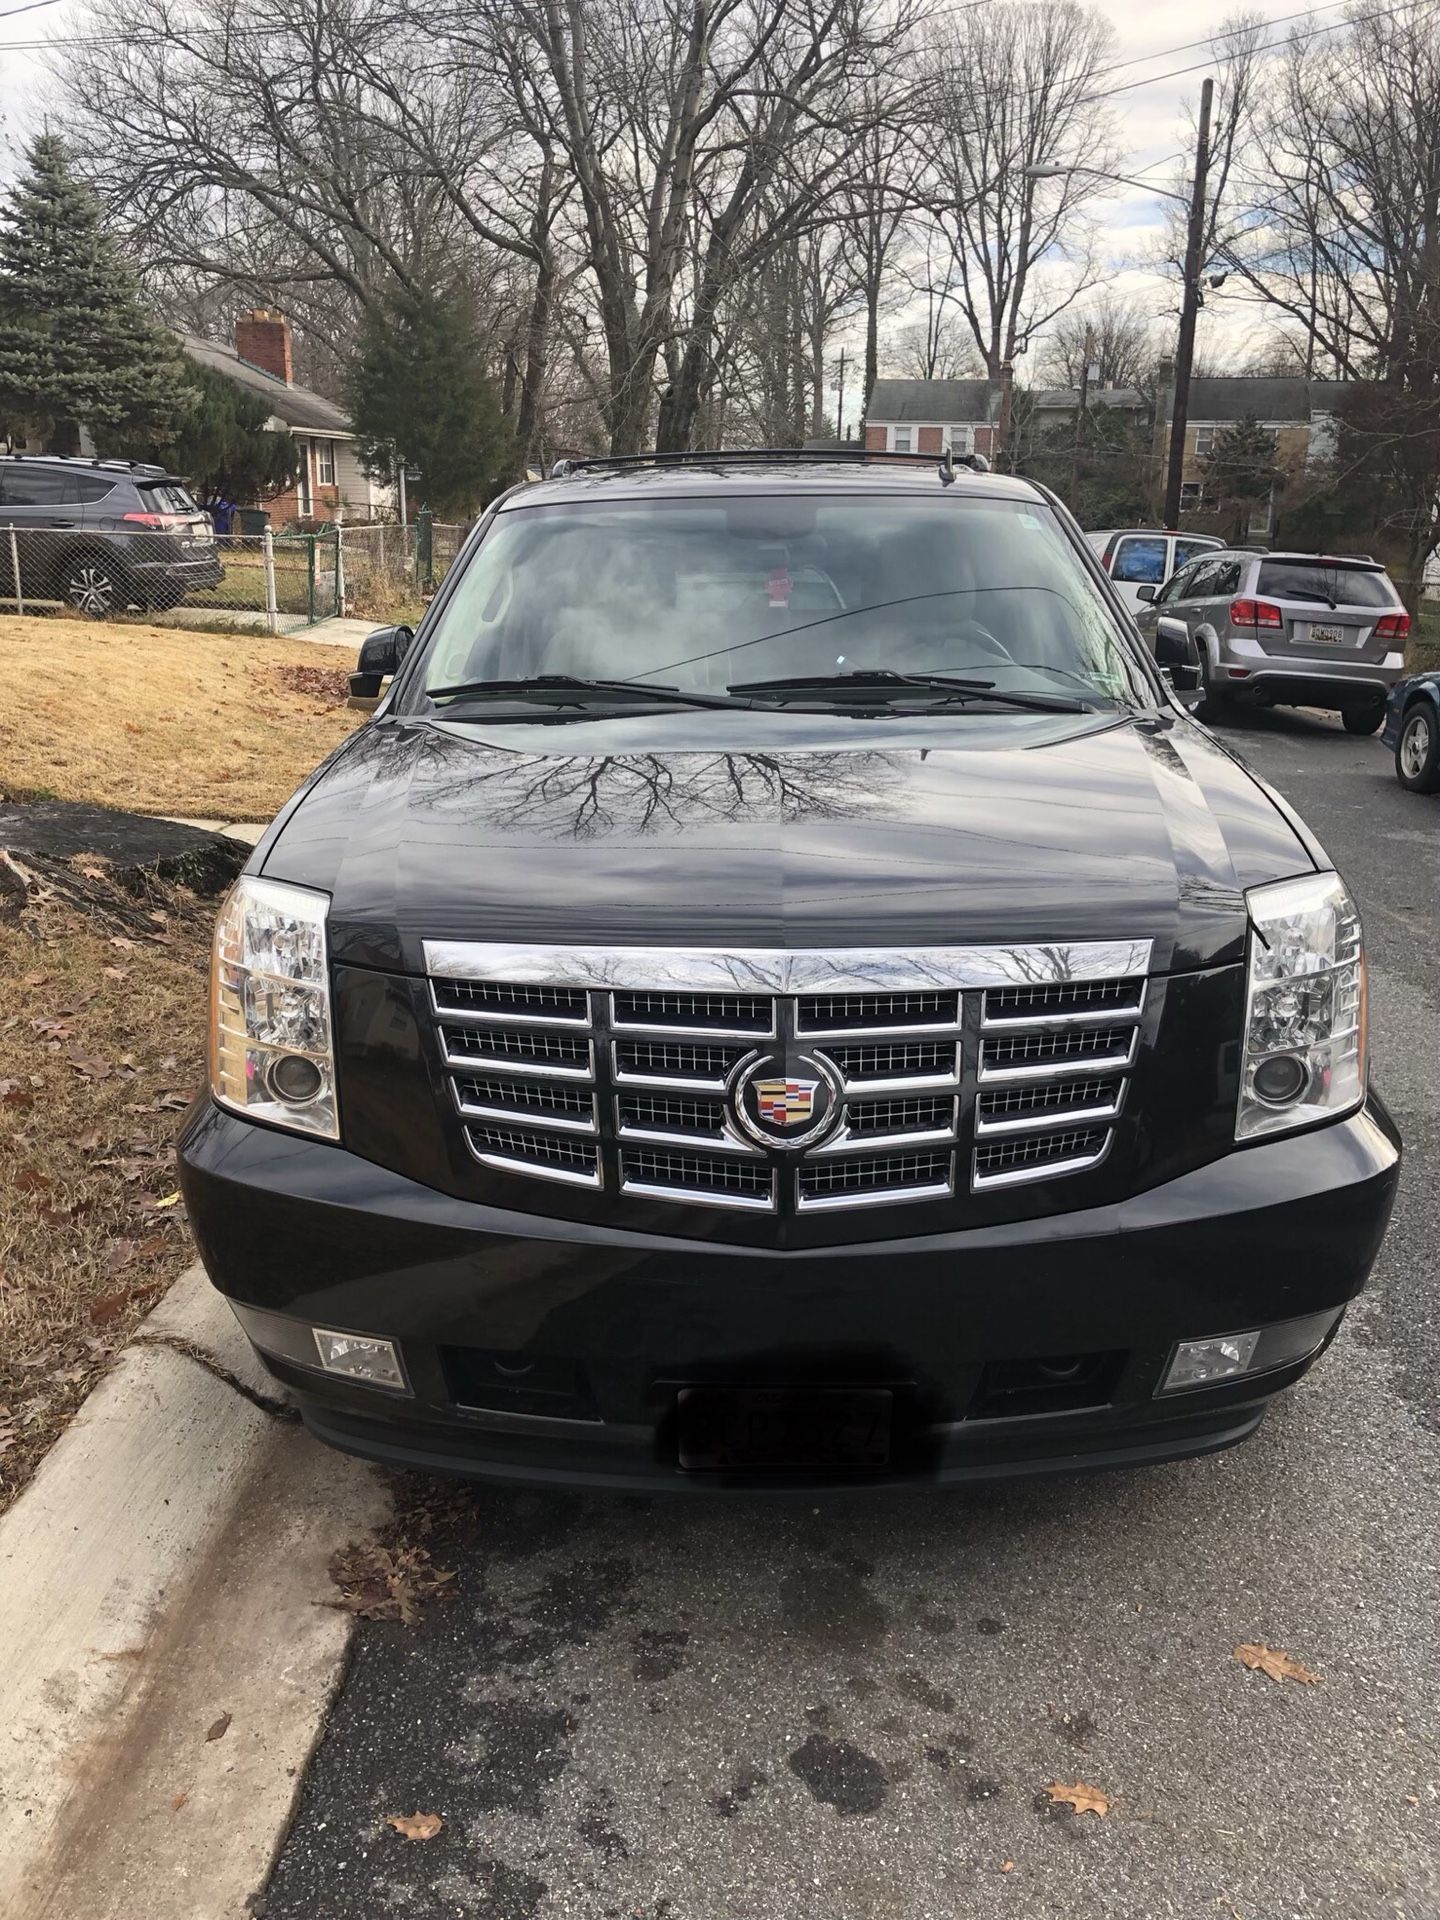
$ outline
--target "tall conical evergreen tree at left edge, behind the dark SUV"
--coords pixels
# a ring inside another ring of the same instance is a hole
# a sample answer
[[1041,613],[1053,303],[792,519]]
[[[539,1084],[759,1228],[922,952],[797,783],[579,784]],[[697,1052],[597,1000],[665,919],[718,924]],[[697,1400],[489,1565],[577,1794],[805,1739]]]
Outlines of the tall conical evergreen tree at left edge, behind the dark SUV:
[[84,426],[98,451],[125,453],[167,444],[190,399],[100,202],[40,134],[0,211],[0,430],[75,453]]

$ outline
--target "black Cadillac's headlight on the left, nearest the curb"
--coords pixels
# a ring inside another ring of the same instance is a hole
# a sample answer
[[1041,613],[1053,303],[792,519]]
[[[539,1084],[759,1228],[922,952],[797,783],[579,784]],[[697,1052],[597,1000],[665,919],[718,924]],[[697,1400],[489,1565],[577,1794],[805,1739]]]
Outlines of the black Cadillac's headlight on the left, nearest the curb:
[[209,1091],[248,1119],[340,1139],[324,914],[309,887],[242,876],[215,924]]

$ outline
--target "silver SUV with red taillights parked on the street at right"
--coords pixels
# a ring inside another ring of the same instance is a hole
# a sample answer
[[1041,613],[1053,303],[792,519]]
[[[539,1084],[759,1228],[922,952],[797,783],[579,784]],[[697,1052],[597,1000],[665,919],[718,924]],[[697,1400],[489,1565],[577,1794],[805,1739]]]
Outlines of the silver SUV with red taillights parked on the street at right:
[[1160,622],[1183,622],[1200,649],[1202,714],[1240,701],[1331,707],[1348,733],[1375,733],[1405,674],[1405,612],[1394,582],[1365,555],[1202,553],[1135,612],[1154,647]]

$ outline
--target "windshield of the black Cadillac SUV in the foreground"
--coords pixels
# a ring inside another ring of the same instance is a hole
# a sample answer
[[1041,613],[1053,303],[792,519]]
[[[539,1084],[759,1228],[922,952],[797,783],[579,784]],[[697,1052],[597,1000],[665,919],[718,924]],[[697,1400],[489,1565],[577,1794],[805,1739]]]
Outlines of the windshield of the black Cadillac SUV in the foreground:
[[574,674],[724,693],[877,668],[1152,699],[1044,503],[793,493],[501,513],[420,684]]

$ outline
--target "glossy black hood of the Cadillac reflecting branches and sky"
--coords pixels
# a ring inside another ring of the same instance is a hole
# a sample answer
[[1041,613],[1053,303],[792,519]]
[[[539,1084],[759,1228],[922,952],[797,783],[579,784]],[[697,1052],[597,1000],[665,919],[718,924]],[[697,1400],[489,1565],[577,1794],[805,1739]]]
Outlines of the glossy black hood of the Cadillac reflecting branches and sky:
[[378,722],[259,856],[332,895],[336,960],[388,972],[422,972],[422,939],[1121,937],[1181,972],[1238,960],[1242,891],[1315,864],[1269,791],[1179,716],[755,712]]

